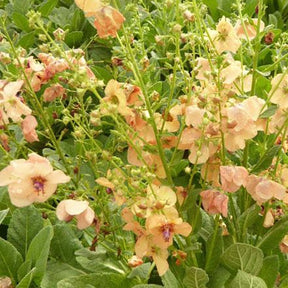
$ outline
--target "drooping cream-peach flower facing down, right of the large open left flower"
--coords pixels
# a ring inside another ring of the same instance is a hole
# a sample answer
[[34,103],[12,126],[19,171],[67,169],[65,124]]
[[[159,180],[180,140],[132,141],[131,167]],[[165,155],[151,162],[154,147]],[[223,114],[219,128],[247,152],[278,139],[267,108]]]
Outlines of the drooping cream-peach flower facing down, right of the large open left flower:
[[88,201],[72,199],[61,201],[56,208],[56,215],[59,220],[66,222],[75,217],[78,229],[88,228],[95,219],[95,213],[89,207]]

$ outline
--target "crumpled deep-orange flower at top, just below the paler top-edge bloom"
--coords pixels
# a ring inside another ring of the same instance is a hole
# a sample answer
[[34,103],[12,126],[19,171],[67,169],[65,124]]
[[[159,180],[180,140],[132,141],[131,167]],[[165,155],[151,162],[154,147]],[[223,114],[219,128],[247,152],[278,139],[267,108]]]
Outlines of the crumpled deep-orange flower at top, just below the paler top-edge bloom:
[[117,31],[125,21],[124,16],[111,6],[104,6],[95,13],[94,25],[100,38],[116,37]]

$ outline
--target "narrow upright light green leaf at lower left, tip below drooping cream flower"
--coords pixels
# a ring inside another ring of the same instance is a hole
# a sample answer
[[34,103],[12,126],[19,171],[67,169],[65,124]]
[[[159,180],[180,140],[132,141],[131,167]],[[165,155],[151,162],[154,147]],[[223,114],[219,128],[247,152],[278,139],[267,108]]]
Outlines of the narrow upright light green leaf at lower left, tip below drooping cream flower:
[[53,237],[53,227],[46,226],[32,240],[26,261],[32,262],[32,267],[36,267],[34,282],[40,285],[46,270],[46,264],[49,254],[50,242]]

